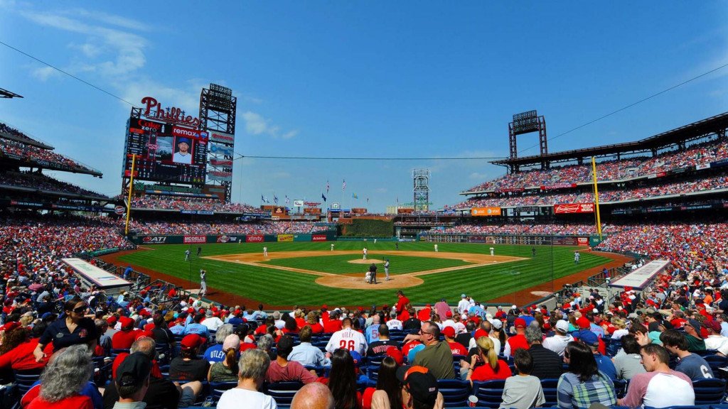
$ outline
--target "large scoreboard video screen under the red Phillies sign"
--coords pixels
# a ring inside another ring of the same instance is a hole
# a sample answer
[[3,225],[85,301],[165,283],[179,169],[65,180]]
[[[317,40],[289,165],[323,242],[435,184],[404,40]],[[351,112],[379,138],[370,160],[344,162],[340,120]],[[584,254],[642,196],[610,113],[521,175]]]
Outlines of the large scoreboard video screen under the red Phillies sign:
[[207,132],[130,118],[124,151],[124,176],[131,175],[136,154],[135,179],[205,183]]

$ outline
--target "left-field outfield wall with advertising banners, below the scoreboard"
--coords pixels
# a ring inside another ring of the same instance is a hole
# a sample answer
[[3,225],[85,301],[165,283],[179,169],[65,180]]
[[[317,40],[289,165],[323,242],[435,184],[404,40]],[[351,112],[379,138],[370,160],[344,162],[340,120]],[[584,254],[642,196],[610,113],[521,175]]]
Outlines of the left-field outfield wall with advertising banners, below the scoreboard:
[[314,234],[142,234],[131,238],[137,245],[202,245],[211,243],[331,242],[336,233]]

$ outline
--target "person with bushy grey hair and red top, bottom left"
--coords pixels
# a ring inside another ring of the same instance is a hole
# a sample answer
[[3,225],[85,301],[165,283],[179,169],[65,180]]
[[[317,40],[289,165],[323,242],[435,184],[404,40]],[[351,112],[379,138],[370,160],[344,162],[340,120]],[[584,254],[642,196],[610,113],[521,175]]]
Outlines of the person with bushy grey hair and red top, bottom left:
[[40,394],[27,409],[93,409],[92,399],[82,394],[92,374],[88,347],[84,344],[68,346],[49,362],[41,374]]

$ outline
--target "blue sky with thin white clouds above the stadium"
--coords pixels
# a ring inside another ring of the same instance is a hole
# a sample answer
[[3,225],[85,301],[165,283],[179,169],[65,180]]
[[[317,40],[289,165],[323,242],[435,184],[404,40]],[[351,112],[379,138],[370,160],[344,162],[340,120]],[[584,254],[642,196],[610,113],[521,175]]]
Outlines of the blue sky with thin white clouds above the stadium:
[[[720,1],[0,0],[0,10],[1,41],[132,103],[151,95],[196,112],[201,87],[232,88],[235,151],[251,156],[507,156],[515,113],[537,109],[553,138],[728,63]],[[1,45],[0,62],[0,87],[25,97],[0,101],[0,119],[104,178],[52,175],[119,194],[130,106]],[[644,138],[728,111],[727,102],[724,68],[549,149]],[[535,143],[536,134],[519,139]],[[234,201],[317,199],[330,180],[330,202],[375,211],[411,201],[415,168],[431,170],[435,207],[505,172],[466,160],[235,167]]]

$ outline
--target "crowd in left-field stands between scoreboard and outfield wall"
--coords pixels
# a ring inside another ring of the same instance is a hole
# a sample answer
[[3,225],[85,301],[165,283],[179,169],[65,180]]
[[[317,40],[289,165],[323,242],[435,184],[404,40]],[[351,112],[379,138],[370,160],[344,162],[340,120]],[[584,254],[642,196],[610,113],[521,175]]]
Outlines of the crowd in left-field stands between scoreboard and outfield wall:
[[325,228],[314,226],[314,223],[309,221],[261,223],[132,221],[131,229],[138,234],[293,234],[314,233],[315,231],[325,230]]

